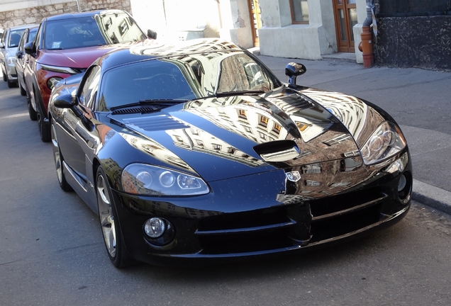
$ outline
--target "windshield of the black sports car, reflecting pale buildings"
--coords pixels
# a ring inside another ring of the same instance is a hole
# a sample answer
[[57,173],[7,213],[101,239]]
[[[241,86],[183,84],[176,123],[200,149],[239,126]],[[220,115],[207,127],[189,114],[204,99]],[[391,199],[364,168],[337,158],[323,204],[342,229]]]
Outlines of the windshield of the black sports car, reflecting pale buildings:
[[101,111],[153,99],[259,94],[282,85],[244,52],[206,52],[127,64],[105,72],[101,82]]

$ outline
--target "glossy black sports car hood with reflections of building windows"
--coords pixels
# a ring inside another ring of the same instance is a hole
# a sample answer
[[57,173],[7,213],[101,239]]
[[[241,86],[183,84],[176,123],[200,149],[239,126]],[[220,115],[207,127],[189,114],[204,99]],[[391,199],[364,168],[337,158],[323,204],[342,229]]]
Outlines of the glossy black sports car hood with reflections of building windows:
[[368,130],[369,107],[334,95],[283,88],[262,96],[204,98],[150,114],[126,108],[108,118],[140,135],[137,141],[124,134],[130,145],[168,166],[186,164],[209,182],[277,170],[313,178],[327,172],[330,181],[347,171],[367,177],[355,140]]

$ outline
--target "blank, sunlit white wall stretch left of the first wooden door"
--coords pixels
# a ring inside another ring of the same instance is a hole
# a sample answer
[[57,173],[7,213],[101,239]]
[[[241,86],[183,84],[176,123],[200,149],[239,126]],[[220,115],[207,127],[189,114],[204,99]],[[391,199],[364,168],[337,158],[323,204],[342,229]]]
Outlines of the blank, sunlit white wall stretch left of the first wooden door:
[[224,38],[253,47],[247,0],[130,0],[133,18],[163,39]]

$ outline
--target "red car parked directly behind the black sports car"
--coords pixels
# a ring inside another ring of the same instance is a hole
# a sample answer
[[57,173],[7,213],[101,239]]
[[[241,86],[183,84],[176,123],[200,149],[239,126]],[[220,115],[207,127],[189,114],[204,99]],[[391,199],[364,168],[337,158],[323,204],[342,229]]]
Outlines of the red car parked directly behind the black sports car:
[[133,18],[116,9],[62,14],[44,18],[24,69],[30,106],[37,114],[41,140],[50,141],[47,109],[52,87],[65,77],[84,72],[94,60],[118,44],[147,38]]

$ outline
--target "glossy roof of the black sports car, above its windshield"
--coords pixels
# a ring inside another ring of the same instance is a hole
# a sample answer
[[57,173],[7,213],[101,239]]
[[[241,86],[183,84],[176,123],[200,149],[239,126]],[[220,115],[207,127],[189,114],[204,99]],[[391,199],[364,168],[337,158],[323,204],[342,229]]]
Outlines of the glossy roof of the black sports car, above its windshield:
[[243,52],[245,49],[235,43],[219,38],[198,38],[194,40],[160,42],[159,40],[145,40],[132,47],[118,47],[106,53],[95,61],[104,70],[112,67],[167,57],[186,57],[194,54],[213,52]]

